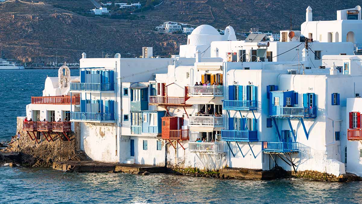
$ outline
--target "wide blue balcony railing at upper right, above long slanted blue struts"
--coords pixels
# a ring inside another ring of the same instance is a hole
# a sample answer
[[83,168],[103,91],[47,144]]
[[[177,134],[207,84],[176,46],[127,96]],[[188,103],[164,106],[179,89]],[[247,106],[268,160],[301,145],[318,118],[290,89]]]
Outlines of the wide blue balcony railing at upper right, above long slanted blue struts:
[[280,107],[273,106],[275,118],[316,118],[317,107]]

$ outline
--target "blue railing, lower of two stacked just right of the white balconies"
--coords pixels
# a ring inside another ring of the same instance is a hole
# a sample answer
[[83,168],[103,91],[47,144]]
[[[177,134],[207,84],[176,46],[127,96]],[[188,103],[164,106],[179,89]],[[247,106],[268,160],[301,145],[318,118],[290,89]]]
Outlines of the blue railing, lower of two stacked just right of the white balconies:
[[257,142],[256,130],[221,130],[221,140],[230,142]]

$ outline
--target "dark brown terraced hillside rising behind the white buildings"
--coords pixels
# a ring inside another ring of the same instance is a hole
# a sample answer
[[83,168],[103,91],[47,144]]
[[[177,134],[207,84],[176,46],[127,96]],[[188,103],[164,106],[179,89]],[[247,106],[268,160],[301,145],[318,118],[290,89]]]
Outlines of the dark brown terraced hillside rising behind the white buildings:
[[169,56],[178,53],[187,36],[151,31],[164,21],[210,24],[219,29],[232,25],[236,32],[252,27],[278,32],[290,28],[290,16],[292,27],[300,29],[308,5],[313,8],[313,20],[334,20],[337,9],[355,4],[352,0],[332,0],[323,5],[316,0],[292,4],[282,0],[164,0],[150,11],[136,13],[144,19],[119,20],[75,13],[94,8],[89,0],[33,4],[9,0],[0,3],[0,51],[22,62],[55,61],[56,52],[58,62],[77,62],[82,52],[88,57],[101,57],[102,51],[135,57],[143,46],[153,46],[154,54]]

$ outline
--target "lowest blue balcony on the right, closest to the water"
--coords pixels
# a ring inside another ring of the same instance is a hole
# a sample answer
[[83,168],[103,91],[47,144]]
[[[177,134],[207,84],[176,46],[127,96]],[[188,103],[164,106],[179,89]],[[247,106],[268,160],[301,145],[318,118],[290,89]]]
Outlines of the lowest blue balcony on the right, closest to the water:
[[298,153],[299,142],[263,142],[263,152],[268,153]]

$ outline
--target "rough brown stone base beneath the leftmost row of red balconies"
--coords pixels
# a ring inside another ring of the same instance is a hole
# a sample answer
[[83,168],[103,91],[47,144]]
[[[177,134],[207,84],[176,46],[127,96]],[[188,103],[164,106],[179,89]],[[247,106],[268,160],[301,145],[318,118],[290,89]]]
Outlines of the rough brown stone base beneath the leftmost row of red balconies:
[[[87,155],[79,149],[79,140],[77,134],[68,132],[70,141],[64,138],[61,139],[55,132],[50,132],[53,141],[47,141],[41,134],[38,143],[34,140],[33,132],[29,132],[33,140],[26,131],[22,130],[24,117],[17,118],[17,132],[20,132],[20,140],[16,140],[6,151],[20,152],[22,156],[22,165],[29,167],[51,167],[53,162],[68,161],[68,160],[89,160]],[[77,129],[77,128],[75,128]],[[17,133],[16,132],[16,133]],[[61,132],[59,132],[60,135]],[[35,135],[37,132],[35,132]],[[49,138],[49,136],[48,136]],[[49,138],[50,139],[50,138]]]

